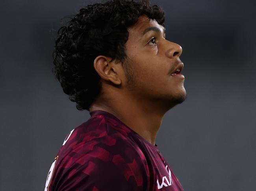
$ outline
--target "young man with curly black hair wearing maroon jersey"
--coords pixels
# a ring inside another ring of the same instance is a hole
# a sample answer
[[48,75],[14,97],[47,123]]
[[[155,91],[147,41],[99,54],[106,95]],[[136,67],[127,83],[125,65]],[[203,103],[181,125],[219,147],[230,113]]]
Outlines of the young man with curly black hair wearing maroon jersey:
[[87,5],[58,32],[55,75],[91,118],[65,138],[45,191],[183,191],[155,143],[186,98],[180,45],[148,1]]

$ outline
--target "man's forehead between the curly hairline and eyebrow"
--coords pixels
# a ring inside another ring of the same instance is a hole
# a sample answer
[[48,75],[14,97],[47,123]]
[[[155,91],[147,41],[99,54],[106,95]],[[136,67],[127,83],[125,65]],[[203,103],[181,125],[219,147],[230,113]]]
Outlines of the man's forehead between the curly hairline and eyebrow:
[[152,20],[150,18],[148,18],[147,15],[141,15],[139,16],[138,21],[128,27],[128,32],[129,32],[129,38],[134,37],[134,38],[140,38],[140,36],[142,35],[143,31],[145,31],[145,29],[147,29],[148,27],[157,27],[159,28],[161,31],[164,31],[164,27],[160,24],[158,24],[158,22],[156,22],[156,20]]

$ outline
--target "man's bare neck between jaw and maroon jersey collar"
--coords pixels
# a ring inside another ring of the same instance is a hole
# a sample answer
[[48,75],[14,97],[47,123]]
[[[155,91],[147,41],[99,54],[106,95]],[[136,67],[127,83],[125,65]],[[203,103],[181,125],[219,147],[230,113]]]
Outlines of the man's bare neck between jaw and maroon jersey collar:
[[163,116],[170,108],[164,109],[155,102],[149,103],[127,95],[113,95],[116,96],[111,98],[104,96],[104,99],[98,97],[91,105],[90,112],[102,110],[113,114],[154,146]]

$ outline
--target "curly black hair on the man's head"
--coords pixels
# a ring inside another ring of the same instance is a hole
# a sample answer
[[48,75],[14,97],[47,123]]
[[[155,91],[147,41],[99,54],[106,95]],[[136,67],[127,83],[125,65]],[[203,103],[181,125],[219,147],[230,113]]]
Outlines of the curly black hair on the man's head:
[[160,25],[165,20],[163,9],[150,6],[149,0],[109,0],[87,5],[76,15],[66,17],[70,20],[59,29],[55,41],[53,72],[78,110],[89,111],[101,92],[100,76],[93,66],[95,58],[104,55],[123,65],[127,28],[141,15]]

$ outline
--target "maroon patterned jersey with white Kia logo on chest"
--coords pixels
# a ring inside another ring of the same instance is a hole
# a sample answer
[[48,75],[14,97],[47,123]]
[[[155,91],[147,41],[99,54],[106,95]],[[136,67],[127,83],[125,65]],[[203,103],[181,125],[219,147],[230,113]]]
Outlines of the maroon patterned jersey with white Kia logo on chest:
[[45,191],[183,191],[157,145],[106,111],[65,138]]

